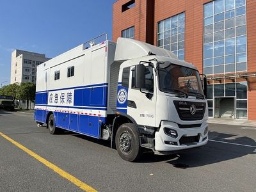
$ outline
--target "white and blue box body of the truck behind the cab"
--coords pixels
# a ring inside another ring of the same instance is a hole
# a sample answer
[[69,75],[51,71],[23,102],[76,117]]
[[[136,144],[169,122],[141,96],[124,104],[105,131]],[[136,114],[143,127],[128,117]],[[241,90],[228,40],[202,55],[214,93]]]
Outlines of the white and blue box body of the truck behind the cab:
[[39,65],[35,120],[46,123],[52,112],[57,127],[100,138],[100,124],[111,113],[108,88],[115,45],[80,45]]

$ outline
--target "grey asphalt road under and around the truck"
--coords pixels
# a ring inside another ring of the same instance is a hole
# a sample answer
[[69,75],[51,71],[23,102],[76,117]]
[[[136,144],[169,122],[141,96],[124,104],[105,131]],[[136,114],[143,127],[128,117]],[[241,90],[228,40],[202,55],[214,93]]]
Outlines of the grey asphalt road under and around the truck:
[[[49,134],[33,115],[0,111],[0,132],[97,191],[256,191],[256,127],[209,124],[209,143],[122,160],[106,141]],[[0,136],[0,191],[81,191]]]

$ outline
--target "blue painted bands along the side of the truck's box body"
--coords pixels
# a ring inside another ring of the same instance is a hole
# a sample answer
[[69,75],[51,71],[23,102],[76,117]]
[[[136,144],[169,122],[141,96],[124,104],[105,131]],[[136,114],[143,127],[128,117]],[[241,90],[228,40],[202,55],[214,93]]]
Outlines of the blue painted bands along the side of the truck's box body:
[[[74,89],[74,106],[53,106],[48,104],[48,95],[52,91]],[[56,90],[47,90],[36,92],[36,106],[54,107],[55,109],[93,109],[106,111],[108,105],[108,84],[93,84],[88,86],[76,86],[72,88],[63,88]],[[47,114],[49,109],[35,109],[35,120],[41,123],[47,123]],[[52,111],[55,116],[56,127],[67,129],[81,134],[86,134],[94,138],[100,138],[100,125],[106,122],[106,117],[93,115],[78,115]]]

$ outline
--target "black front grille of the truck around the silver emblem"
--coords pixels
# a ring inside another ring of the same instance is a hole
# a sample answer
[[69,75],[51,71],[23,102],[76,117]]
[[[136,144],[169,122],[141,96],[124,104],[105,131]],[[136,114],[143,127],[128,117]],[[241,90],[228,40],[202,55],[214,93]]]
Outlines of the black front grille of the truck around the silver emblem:
[[[179,114],[181,120],[202,120],[205,112],[205,102],[188,102],[173,100],[175,108]],[[191,113],[191,106],[195,105],[195,114]]]

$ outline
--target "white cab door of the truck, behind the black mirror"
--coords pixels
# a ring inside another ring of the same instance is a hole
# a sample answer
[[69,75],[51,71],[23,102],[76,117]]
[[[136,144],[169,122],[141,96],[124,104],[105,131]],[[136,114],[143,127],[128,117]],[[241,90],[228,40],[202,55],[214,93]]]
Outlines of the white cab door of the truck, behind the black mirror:
[[[142,64],[140,64],[142,65]],[[135,67],[130,69],[127,115],[138,125],[156,126],[156,80],[152,66],[145,65],[145,89],[135,88]]]

